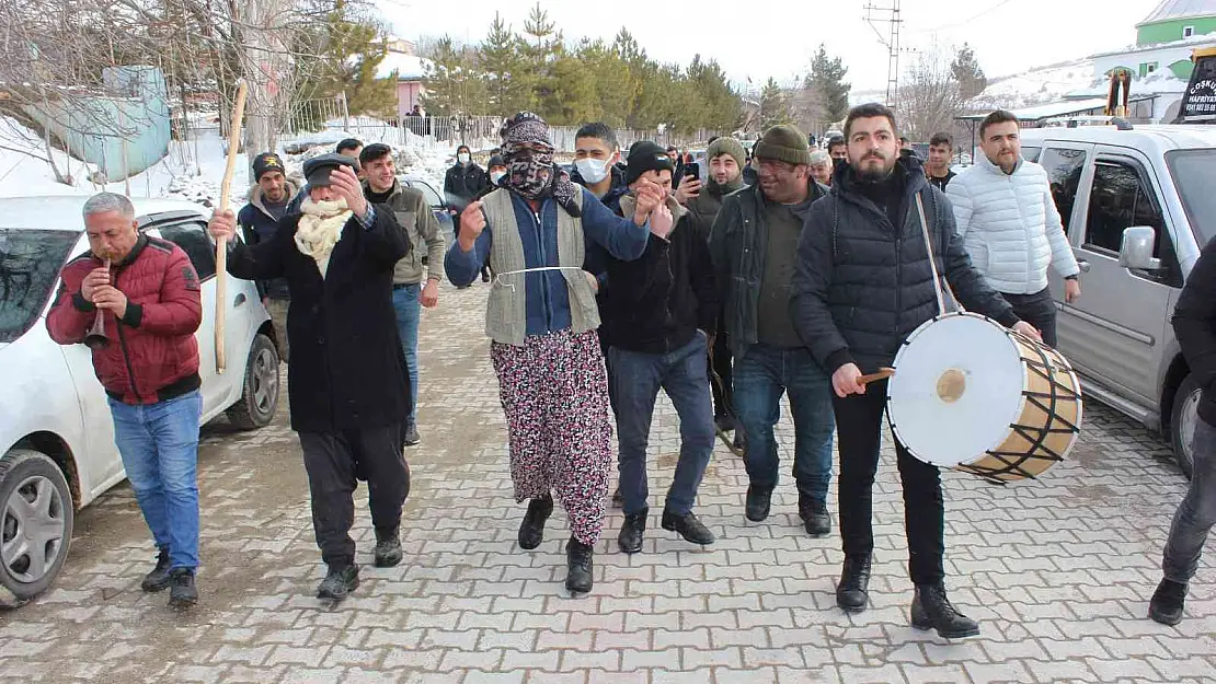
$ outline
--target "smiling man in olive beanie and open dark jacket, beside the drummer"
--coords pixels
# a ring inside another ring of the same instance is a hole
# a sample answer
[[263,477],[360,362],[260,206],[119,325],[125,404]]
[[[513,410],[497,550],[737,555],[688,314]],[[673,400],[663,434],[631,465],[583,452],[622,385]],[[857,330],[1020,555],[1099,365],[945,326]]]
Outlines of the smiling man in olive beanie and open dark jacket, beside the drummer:
[[798,337],[789,296],[803,221],[826,190],[811,177],[806,136],[794,126],[765,131],[753,158],[759,183],[726,197],[709,238],[734,356],[734,411],[748,440],[747,516],[769,516],[778,480],[773,426],[787,392],[798,510],[806,532],[822,536],[832,530],[832,388]]

